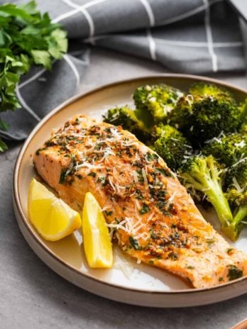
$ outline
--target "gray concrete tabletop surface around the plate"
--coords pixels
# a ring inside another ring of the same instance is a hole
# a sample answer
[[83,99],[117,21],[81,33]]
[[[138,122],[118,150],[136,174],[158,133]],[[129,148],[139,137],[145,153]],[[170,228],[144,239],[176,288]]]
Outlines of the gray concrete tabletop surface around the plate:
[[[165,72],[157,63],[93,50],[80,91],[117,79]],[[243,74],[215,77],[247,87]],[[229,329],[247,317],[247,294],[211,306],[155,309],[109,301],[78,289],[49,269],[21,235],[13,215],[13,165],[21,144],[0,155],[1,329]]]

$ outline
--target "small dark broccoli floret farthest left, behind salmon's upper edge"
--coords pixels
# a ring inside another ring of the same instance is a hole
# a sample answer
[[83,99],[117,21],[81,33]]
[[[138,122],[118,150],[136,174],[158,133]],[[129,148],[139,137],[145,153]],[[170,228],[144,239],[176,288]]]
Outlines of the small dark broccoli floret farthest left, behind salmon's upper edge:
[[127,106],[111,108],[104,116],[104,122],[114,126],[122,126],[130,131],[142,142],[150,138],[150,130],[136,117],[136,114]]

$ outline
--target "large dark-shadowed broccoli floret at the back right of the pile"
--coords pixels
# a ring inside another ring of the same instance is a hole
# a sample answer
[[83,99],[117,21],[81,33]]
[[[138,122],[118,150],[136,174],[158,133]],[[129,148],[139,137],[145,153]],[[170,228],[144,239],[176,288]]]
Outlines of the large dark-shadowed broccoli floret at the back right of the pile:
[[178,128],[193,145],[224,133],[233,133],[241,126],[242,113],[228,91],[212,84],[194,84],[189,94],[177,102],[168,122]]

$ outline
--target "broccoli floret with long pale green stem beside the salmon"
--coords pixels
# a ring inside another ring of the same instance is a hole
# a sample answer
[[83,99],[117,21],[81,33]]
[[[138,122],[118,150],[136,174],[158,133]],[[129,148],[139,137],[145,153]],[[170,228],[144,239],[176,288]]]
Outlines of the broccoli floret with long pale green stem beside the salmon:
[[[212,203],[221,221],[221,227],[227,228],[233,221],[229,206],[221,187],[221,166],[212,155],[190,157],[180,169],[180,177],[185,187],[203,192]],[[231,238],[230,233],[228,234]]]

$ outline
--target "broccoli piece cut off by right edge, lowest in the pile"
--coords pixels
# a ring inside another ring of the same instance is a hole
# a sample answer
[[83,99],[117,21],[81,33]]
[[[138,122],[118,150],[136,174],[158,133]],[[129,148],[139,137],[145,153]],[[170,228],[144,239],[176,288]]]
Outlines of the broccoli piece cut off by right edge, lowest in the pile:
[[247,218],[247,157],[227,170],[225,187],[225,196],[233,208],[234,220],[224,231],[232,240],[236,240]]

